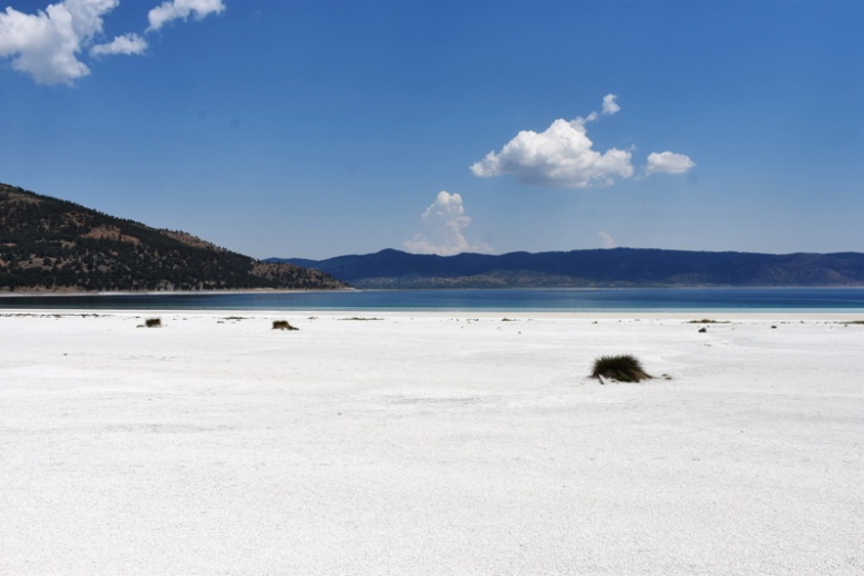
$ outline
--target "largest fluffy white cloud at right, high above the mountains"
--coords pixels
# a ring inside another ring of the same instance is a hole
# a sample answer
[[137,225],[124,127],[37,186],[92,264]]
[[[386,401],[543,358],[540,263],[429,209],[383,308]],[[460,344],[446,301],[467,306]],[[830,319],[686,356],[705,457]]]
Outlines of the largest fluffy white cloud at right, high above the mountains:
[[630,177],[629,152],[594,150],[585,124],[595,119],[596,114],[570,122],[558,119],[539,133],[524,130],[500,152],[474,163],[471,172],[481,177],[511,174],[525,184],[563,188],[608,186],[616,176]]

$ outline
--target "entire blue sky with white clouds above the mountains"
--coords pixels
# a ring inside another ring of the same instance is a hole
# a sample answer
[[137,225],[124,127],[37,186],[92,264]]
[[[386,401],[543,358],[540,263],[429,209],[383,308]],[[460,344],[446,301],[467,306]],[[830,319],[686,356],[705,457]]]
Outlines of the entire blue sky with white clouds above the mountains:
[[864,2],[0,9],[0,182],[250,256],[864,251]]

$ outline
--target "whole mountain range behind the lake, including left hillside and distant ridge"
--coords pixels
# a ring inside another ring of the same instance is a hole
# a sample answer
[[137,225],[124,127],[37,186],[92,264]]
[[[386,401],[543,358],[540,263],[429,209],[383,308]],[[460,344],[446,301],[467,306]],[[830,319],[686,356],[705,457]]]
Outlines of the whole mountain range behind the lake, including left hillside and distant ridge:
[[0,291],[864,286],[864,254],[613,248],[256,260],[0,184]]

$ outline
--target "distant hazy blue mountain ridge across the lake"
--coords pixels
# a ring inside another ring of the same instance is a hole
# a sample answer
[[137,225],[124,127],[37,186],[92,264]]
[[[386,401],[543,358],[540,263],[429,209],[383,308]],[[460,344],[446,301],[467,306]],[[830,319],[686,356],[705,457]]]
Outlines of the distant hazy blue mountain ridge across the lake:
[[310,260],[357,288],[587,288],[864,286],[864,254],[755,254],[613,248],[500,256],[435,256],[385,249]]

